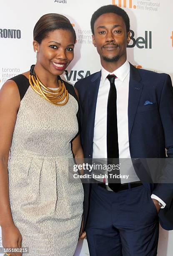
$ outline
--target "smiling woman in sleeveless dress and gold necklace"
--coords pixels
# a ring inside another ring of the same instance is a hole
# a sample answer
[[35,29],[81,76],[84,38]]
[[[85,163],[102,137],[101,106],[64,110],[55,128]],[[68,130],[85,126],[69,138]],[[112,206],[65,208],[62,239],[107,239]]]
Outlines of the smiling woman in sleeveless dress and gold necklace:
[[59,14],[43,15],[33,36],[35,66],[0,91],[3,246],[28,247],[28,256],[73,256],[83,186],[68,182],[68,166],[73,166],[73,155],[83,158],[83,151],[77,91],[59,76],[73,60],[76,36],[70,21]]

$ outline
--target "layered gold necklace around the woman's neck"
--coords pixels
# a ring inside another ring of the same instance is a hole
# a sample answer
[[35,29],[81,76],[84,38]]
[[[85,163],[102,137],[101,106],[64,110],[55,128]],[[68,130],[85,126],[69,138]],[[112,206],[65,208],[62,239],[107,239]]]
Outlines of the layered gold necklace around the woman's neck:
[[[54,105],[65,105],[68,102],[68,90],[65,88],[63,80],[61,80],[61,78],[58,76],[57,79],[59,87],[57,90],[51,90],[50,88],[46,87],[35,74],[34,66],[35,65],[31,66],[29,76],[29,83],[33,90],[38,93],[38,95],[40,95],[43,99],[53,103]],[[65,101],[62,102],[63,100]]]

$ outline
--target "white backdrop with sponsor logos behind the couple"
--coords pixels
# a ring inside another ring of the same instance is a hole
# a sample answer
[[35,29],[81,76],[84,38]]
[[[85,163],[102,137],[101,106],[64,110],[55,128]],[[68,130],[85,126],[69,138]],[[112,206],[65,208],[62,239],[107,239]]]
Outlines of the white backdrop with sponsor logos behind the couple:
[[[10,77],[35,64],[33,28],[45,13],[67,16],[76,31],[75,58],[63,74],[74,84],[98,70],[100,59],[92,44],[90,18],[103,5],[118,5],[130,17],[128,60],[138,68],[165,72],[173,78],[172,0],[1,0],[0,87]],[[172,256],[173,231],[160,228],[159,256]],[[0,247],[2,238],[0,235]],[[80,241],[75,256],[89,255],[87,241]]]

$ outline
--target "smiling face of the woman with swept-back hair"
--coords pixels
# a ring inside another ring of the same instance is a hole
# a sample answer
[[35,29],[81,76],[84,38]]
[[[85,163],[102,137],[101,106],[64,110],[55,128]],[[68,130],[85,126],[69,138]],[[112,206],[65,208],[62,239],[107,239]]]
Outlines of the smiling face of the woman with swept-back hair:
[[38,51],[37,63],[53,75],[63,74],[74,58],[74,37],[71,31],[57,29],[44,38],[41,44],[33,42]]

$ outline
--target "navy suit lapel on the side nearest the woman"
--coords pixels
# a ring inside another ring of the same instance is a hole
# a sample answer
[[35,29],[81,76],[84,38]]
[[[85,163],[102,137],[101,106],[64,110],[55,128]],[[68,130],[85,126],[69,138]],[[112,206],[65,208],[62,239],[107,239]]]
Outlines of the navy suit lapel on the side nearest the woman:
[[[97,72],[88,84],[88,127],[89,139],[93,143],[94,123],[95,123],[95,109],[97,104],[98,89],[100,85],[101,71]],[[92,144],[93,145],[93,144]]]

